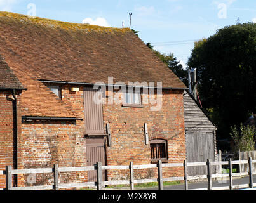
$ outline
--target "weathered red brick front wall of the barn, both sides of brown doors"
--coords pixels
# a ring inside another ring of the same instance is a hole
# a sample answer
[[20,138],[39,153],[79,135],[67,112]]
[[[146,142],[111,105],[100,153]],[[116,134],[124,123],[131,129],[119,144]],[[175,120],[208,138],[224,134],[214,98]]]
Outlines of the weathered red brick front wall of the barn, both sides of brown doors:
[[[84,119],[83,87],[72,93],[70,86],[62,86],[62,100],[67,102]],[[149,139],[162,138],[168,141],[168,162],[183,162],[185,159],[185,133],[183,91],[163,92],[163,107],[158,112],[143,108],[104,105],[104,125],[111,126],[112,146],[107,147],[108,165],[151,164],[150,145],[145,145],[144,123],[147,123]],[[86,166],[86,138],[84,121],[29,121],[22,124],[19,145],[19,168],[31,167],[78,167]],[[5,166],[5,165],[4,165]],[[163,169],[164,177],[183,175],[183,168]],[[127,179],[128,171],[108,171],[110,179]],[[156,170],[136,170],[135,177],[151,178]],[[50,181],[48,181],[48,178]],[[60,175],[62,183],[86,181],[87,173]],[[36,185],[53,182],[51,174],[36,176]],[[27,176],[21,185],[27,184]]]

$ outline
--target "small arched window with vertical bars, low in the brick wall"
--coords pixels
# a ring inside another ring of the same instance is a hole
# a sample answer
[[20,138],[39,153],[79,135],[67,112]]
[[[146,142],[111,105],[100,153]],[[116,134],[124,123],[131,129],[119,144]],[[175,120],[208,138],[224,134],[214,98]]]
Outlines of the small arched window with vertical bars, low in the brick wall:
[[166,140],[151,140],[151,160],[167,160],[167,142]]

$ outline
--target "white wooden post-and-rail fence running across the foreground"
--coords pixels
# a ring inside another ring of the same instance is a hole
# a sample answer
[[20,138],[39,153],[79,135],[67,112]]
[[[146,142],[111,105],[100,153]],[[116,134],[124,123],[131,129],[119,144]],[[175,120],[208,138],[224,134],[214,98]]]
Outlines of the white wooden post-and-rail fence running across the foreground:
[[[145,164],[145,165],[133,165],[133,162],[130,162],[129,166],[102,166],[98,162],[95,166],[86,166],[86,167],[58,167],[58,164],[55,164],[53,168],[43,168],[43,169],[11,169],[11,166],[6,166],[5,171],[0,171],[0,175],[6,176],[6,188],[0,188],[0,190],[59,190],[63,188],[81,188],[81,187],[97,187],[97,190],[102,190],[105,185],[130,185],[130,189],[134,190],[134,184],[137,183],[151,183],[158,182],[158,189],[163,190],[163,181],[184,181],[184,189],[189,190],[188,181],[189,180],[200,180],[207,179],[208,187],[199,188],[196,190],[235,190],[238,188],[253,188],[256,187],[256,183],[253,183],[253,174],[256,172],[253,171],[253,163],[256,163],[256,160],[252,160],[251,157],[248,160],[231,160],[229,161],[217,161],[211,162],[209,159],[206,162],[194,162],[187,163],[187,160],[184,160],[183,163],[173,163],[173,164],[162,164],[161,160],[158,161],[158,164]],[[234,164],[248,164],[248,172],[242,173],[232,173],[232,165]],[[229,165],[229,174],[212,174],[212,166],[222,166]],[[190,166],[206,166],[207,174],[201,176],[188,176],[188,167]],[[184,167],[184,176],[169,177],[163,178],[163,167]],[[151,179],[134,179],[134,170],[136,169],[158,169],[158,178]],[[102,180],[102,170],[130,170],[130,180],[111,180],[103,181]],[[58,174],[64,172],[76,172],[76,171],[97,171],[97,181],[96,182],[86,182],[86,183],[66,183],[60,184]],[[53,173],[54,184],[53,185],[39,185],[39,186],[30,186],[30,187],[12,187],[12,176],[13,174],[36,174],[36,173]],[[242,185],[233,185],[232,177],[234,176],[249,176],[249,183]],[[229,186],[224,187],[213,187],[212,178],[227,178],[229,177]]]

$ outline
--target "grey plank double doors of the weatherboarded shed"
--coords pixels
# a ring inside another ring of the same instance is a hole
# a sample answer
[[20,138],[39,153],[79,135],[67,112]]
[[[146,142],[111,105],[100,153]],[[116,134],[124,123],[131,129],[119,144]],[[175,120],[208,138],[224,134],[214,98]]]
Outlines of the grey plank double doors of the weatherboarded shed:
[[[187,162],[215,161],[213,132],[186,131],[186,142]],[[189,176],[207,174],[206,166],[189,166],[188,170]]]

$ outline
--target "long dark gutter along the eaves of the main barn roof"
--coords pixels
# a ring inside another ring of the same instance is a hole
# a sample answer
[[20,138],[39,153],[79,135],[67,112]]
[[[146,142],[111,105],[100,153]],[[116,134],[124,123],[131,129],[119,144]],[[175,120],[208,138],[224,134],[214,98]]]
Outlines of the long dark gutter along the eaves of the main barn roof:
[[[95,84],[88,83],[88,82],[64,82],[64,81],[47,81],[47,80],[41,80],[40,82],[49,82],[49,83],[55,83],[55,84],[74,84],[74,85],[84,85],[84,86],[94,86]],[[116,87],[133,87],[133,88],[154,88],[154,89],[189,89],[189,88],[172,88],[172,87],[166,87],[166,88],[157,88],[157,87],[146,87],[146,86],[128,86],[128,85],[115,85],[115,84],[106,84],[106,86],[116,86]]]

